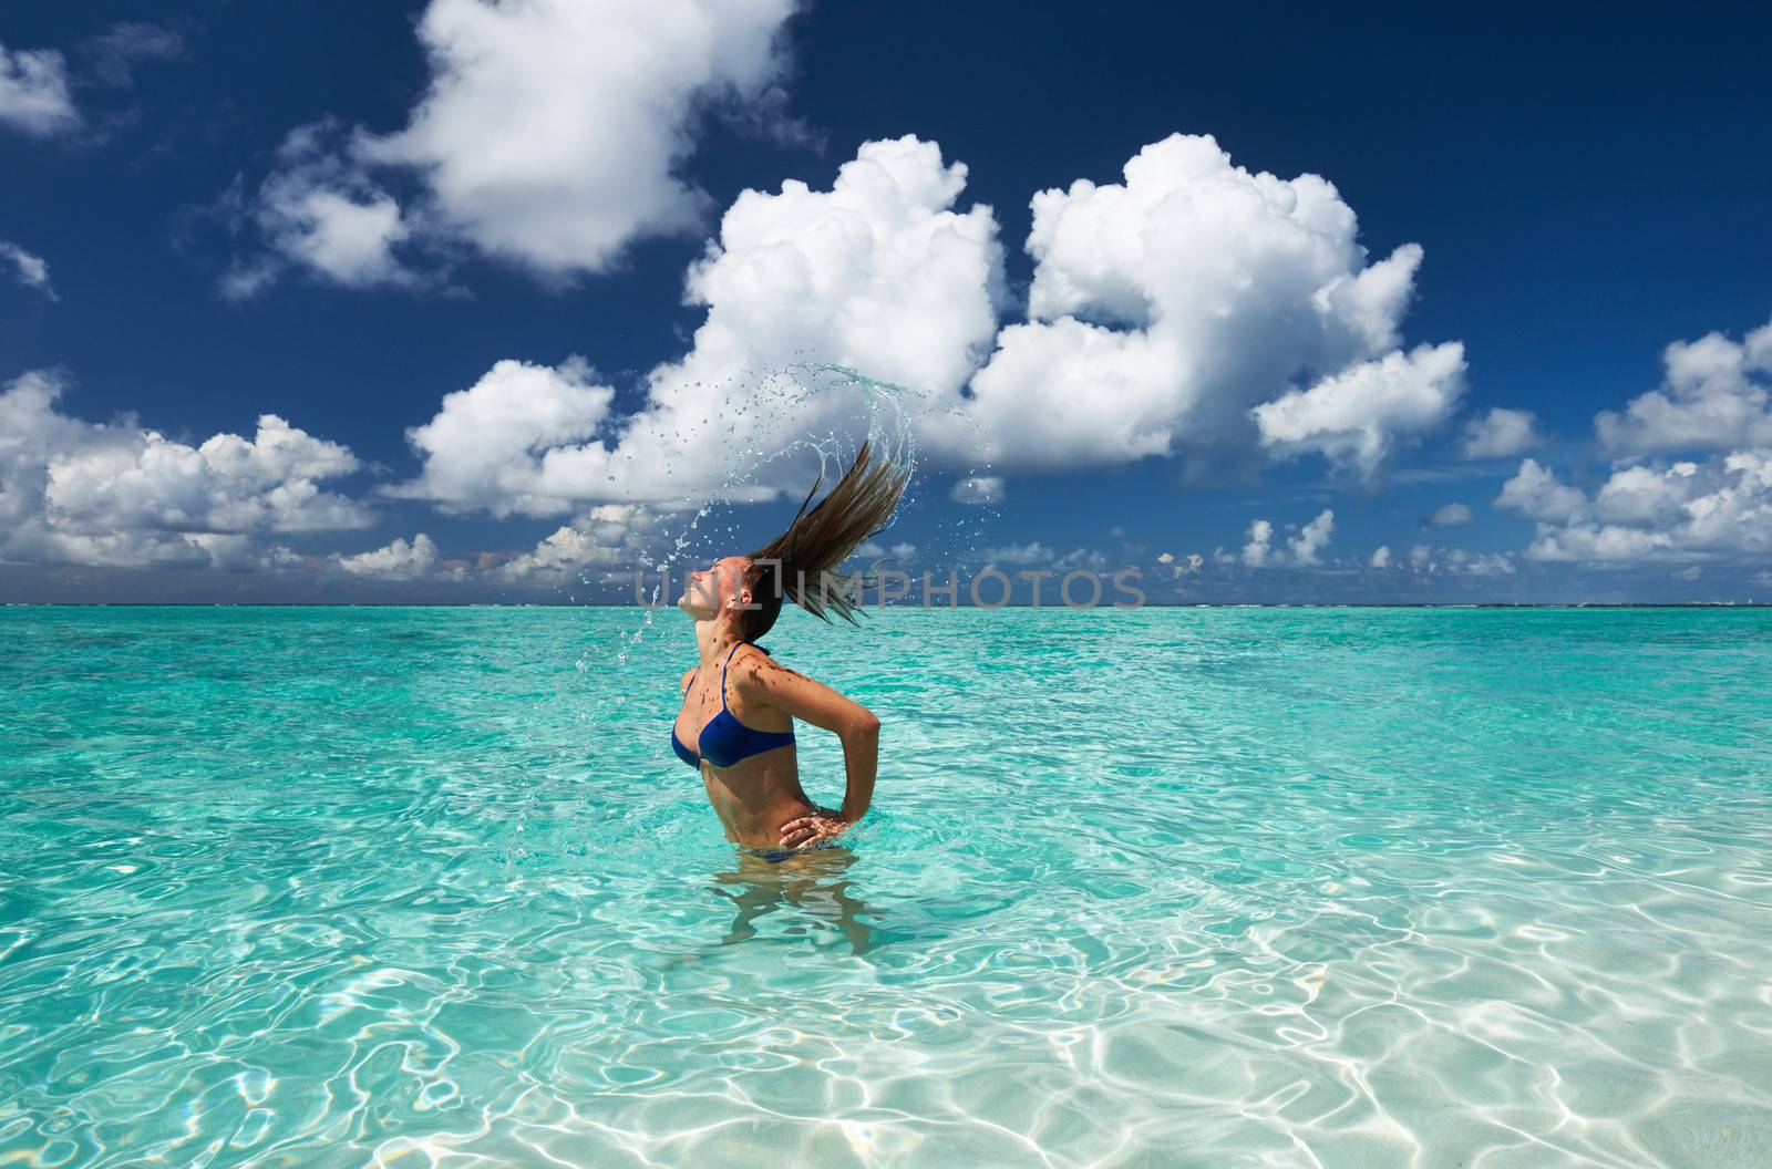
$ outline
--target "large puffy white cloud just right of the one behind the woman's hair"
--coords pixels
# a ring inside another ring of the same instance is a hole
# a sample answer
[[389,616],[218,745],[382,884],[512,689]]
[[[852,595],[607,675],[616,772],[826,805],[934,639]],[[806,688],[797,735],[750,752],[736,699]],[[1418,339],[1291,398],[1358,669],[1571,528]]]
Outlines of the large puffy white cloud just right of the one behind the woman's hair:
[[[1457,345],[1387,360],[1421,248],[1368,264],[1331,182],[1251,174],[1189,135],[1146,145],[1123,177],[1033,198],[1030,321],[973,379],[992,462],[1249,462],[1262,441],[1333,430],[1317,450],[1373,466],[1393,429],[1449,409]],[[1258,430],[1251,407],[1308,374],[1327,388],[1283,397]]]

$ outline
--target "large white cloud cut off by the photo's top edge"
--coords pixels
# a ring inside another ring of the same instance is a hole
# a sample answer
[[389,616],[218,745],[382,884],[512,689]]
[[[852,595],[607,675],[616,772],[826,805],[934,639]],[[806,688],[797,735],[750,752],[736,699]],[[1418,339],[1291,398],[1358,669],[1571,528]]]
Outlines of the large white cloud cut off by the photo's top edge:
[[707,195],[680,174],[696,119],[780,94],[792,11],[431,0],[418,21],[431,81],[404,129],[358,129],[330,159],[285,161],[260,193],[268,243],[358,285],[395,271],[385,244],[408,234],[551,280],[606,271],[634,239],[702,223]]

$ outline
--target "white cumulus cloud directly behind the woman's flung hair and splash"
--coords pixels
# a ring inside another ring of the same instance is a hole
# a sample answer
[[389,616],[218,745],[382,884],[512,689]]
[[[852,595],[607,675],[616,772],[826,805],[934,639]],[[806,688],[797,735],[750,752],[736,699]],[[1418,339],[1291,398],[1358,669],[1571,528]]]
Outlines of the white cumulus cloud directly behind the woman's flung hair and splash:
[[[966,166],[905,136],[865,143],[828,191],[797,181],[744,191],[688,273],[688,299],[707,306],[691,351],[647,375],[640,411],[594,437],[608,388],[592,393],[565,370],[517,384],[514,370],[533,367],[500,363],[413,430],[425,468],[400,492],[544,515],[712,491],[734,452],[774,452],[861,416],[854,386],[790,400],[794,386],[764,377],[808,352],[957,400],[973,354],[994,335],[1001,294],[991,209],[952,209],[964,182]],[[486,411],[496,414],[491,427]],[[797,469],[778,473],[799,480]],[[764,498],[773,491],[757,487]]]

